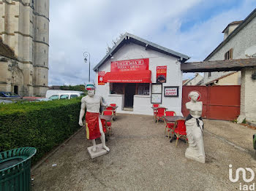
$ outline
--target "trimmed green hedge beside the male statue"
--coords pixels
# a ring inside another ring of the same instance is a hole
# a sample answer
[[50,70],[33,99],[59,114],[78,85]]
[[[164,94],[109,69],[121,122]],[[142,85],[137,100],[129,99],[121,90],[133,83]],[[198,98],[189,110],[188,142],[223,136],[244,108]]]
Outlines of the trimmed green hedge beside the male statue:
[[80,98],[0,104],[0,152],[35,147],[33,162],[80,128]]

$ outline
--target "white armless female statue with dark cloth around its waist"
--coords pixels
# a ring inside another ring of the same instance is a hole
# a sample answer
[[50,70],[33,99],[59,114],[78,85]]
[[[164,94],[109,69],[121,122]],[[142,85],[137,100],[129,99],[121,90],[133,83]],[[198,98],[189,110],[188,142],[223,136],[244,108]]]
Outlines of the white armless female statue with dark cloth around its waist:
[[201,117],[203,102],[198,101],[199,98],[200,94],[192,91],[189,93],[190,101],[186,103],[186,108],[189,110],[189,116],[185,122],[189,147],[185,156],[200,163],[206,163],[206,154],[203,147],[203,120]]

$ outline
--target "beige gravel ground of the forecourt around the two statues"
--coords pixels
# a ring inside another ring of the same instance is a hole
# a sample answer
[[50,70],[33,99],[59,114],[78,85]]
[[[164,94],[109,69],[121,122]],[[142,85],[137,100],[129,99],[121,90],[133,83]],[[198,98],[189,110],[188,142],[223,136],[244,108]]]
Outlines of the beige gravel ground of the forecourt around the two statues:
[[87,152],[91,141],[81,130],[32,171],[32,190],[239,190],[239,183],[245,183],[230,182],[229,165],[233,174],[239,167],[256,172],[252,149],[256,130],[221,120],[204,122],[206,164],[184,157],[187,144],[170,143],[163,122],[117,114],[107,155],[91,160]]

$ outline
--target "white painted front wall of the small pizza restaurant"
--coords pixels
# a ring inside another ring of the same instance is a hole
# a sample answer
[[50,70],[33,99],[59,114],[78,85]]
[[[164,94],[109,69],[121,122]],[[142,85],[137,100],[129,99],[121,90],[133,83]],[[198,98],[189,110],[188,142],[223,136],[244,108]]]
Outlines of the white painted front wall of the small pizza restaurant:
[[[182,71],[181,62],[178,58],[173,56],[149,50],[138,44],[124,44],[112,58],[102,63],[98,71],[110,72],[110,63],[112,61],[124,61],[132,59],[148,58],[148,70],[151,70],[151,82],[156,83],[157,66],[167,66],[167,82],[162,84],[162,104],[167,110],[175,111],[177,115],[181,113],[181,98],[182,98]],[[122,94],[110,94],[110,83],[105,85],[98,85],[98,71],[95,79],[96,94],[102,95],[107,104],[117,104],[117,112],[125,112],[132,114],[150,114],[153,115],[151,109],[151,85],[149,95],[134,95],[133,112],[123,111],[124,109],[124,96]],[[178,86],[178,97],[165,97],[165,86]]]

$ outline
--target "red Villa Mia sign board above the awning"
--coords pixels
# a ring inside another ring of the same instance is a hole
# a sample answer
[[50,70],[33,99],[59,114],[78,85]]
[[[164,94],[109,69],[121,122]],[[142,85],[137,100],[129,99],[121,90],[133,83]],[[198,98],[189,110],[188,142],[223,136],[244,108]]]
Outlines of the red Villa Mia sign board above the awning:
[[148,70],[148,61],[148,58],[127,61],[114,61],[111,62],[111,72]]

